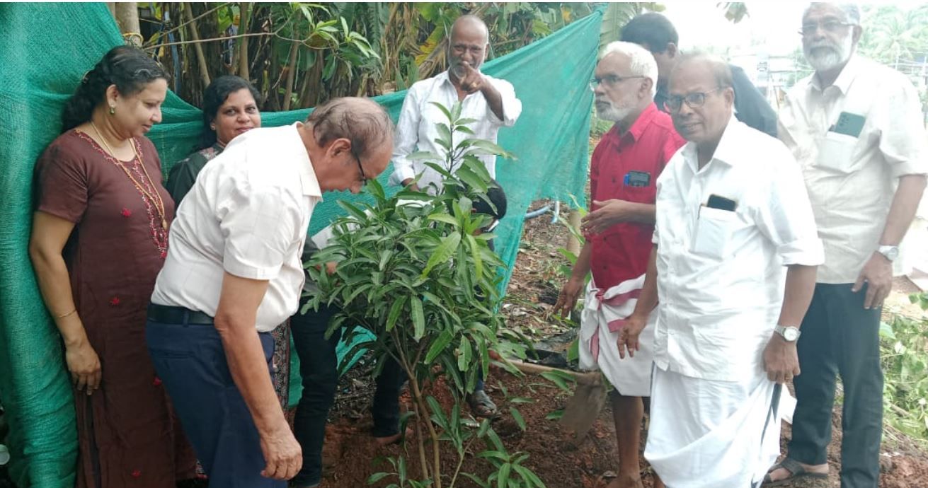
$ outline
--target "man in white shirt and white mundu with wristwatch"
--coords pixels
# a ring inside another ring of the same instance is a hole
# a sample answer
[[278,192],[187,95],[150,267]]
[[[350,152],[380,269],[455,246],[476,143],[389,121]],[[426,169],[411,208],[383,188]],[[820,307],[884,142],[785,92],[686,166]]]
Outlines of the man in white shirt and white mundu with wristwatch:
[[657,314],[644,456],[673,488],[757,486],[780,446],[778,383],[822,263],[802,173],[780,141],[733,117],[728,65],[689,56],[667,107],[689,142],[657,181],[654,250],[618,340]]

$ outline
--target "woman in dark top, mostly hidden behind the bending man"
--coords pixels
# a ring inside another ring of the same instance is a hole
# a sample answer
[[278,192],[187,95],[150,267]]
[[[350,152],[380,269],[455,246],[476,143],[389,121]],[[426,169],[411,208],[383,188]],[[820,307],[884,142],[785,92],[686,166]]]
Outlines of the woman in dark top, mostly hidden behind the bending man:
[[[261,127],[261,112],[256,100],[258,90],[238,76],[220,76],[203,92],[203,129],[200,149],[178,161],[168,174],[165,184],[178,207],[190,188],[197,181],[197,174],[226,145],[240,134]],[[290,385],[290,328],[287,324],[277,327],[274,336],[274,390],[280,406],[287,411],[288,387]]]

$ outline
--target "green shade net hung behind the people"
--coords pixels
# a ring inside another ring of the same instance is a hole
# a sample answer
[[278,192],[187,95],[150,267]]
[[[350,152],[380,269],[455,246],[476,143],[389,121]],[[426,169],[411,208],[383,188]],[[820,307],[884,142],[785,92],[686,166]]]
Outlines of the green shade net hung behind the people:
[[[515,86],[523,107],[519,122],[499,137],[519,161],[496,166],[509,196],[509,216],[497,227],[496,249],[509,269],[529,204],[584,194],[592,102],[586,84],[596,65],[601,20],[599,10],[484,65],[483,71]],[[105,4],[0,4],[0,26],[0,404],[12,427],[6,439],[10,472],[20,488],[70,487],[77,456],[71,387],[58,331],[45,311],[28,254],[32,168],[58,136],[61,109],[84,72],[122,37]],[[376,100],[395,120],[404,96]],[[163,122],[149,137],[167,174],[190,152],[201,122],[200,110],[173,93],[162,110]],[[263,124],[302,121],[309,111],[264,113]],[[381,183],[391,171],[380,176]],[[338,199],[365,196],[327,194],[316,207],[311,232],[341,214]],[[299,398],[299,390],[291,398]]]

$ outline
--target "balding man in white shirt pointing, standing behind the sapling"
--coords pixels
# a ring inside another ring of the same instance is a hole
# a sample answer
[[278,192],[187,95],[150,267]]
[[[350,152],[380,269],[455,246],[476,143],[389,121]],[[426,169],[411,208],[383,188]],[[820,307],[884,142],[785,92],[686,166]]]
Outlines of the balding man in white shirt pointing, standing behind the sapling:
[[[448,70],[409,87],[393,141],[394,185],[415,185],[431,194],[442,188],[441,173],[423,161],[409,159],[416,151],[445,155],[445,148],[435,139],[440,135],[436,124],[446,124],[447,118],[433,102],[446,109],[460,102],[461,117],[474,120],[467,124],[473,134],[458,134],[458,138],[480,138],[495,143],[499,128],[511,127],[519,119],[522,102],[516,98],[512,84],[480,72],[489,43],[490,33],[483,20],[473,15],[458,17],[448,39]],[[496,178],[496,156],[480,156],[480,159],[490,176]],[[455,161],[454,167],[445,169],[454,173],[460,162]]]

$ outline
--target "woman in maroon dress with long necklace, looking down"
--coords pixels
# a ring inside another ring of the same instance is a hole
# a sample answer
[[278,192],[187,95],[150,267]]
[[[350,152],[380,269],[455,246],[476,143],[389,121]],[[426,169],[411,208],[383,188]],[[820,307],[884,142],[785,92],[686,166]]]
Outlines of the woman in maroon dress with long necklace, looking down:
[[156,62],[114,47],[84,75],[35,168],[30,255],[73,381],[79,488],[174,488],[194,476],[145,345],[174,218],[145,137],[166,94]]

